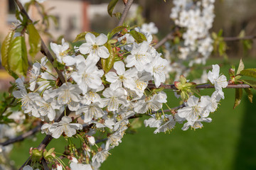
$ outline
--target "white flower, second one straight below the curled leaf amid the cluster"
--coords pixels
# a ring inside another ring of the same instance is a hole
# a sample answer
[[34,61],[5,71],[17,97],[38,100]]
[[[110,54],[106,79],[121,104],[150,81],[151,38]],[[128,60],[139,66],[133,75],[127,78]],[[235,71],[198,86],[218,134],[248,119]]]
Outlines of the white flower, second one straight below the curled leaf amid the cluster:
[[117,111],[119,104],[126,104],[126,91],[122,88],[110,89],[107,88],[102,93],[105,98],[102,98],[102,107],[107,106],[108,111]]

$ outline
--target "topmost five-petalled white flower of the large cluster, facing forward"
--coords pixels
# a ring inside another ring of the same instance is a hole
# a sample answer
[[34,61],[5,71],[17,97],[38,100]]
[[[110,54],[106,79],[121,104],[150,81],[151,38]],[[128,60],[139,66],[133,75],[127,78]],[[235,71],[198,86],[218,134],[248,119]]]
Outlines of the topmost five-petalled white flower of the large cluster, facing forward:
[[86,42],[80,45],[79,50],[83,55],[89,54],[87,60],[92,63],[96,63],[101,58],[107,58],[110,56],[110,52],[107,47],[103,46],[107,42],[107,35],[100,34],[95,38],[92,33],[85,35]]

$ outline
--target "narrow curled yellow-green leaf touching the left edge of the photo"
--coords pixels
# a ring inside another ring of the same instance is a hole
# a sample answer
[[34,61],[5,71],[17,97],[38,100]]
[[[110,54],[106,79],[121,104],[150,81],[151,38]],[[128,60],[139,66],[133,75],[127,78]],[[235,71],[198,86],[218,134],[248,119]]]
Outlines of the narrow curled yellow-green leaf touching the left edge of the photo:
[[1,63],[6,69],[9,69],[8,54],[13,36],[14,30],[8,33],[1,46]]

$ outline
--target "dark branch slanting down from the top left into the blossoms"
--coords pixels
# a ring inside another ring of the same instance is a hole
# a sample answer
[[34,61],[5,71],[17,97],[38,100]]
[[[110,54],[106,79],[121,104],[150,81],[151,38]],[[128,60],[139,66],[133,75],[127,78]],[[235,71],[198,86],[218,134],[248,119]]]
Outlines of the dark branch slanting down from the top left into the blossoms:
[[[28,21],[30,21],[31,23],[33,23],[33,21],[31,20],[31,18],[29,18],[28,13],[26,12],[25,8],[23,7],[23,5],[21,4],[20,1],[18,0],[14,0],[16,2],[16,4],[18,5],[18,8],[20,9],[21,13],[23,13],[26,18],[28,18]],[[41,37],[40,37],[41,38]],[[50,54],[50,51],[48,50],[48,47],[46,47],[45,42],[43,42],[43,39],[41,38],[41,52],[43,55],[46,55],[47,59],[51,62],[51,64],[53,65],[54,62],[54,58],[53,55]],[[53,67],[55,69],[55,71],[58,74],[58,77],[60,78],[60,81],[62,82],[62,84],[65,83],[65,77],[63,76],[62,72],[60,72],[60,70],[57,67]]]

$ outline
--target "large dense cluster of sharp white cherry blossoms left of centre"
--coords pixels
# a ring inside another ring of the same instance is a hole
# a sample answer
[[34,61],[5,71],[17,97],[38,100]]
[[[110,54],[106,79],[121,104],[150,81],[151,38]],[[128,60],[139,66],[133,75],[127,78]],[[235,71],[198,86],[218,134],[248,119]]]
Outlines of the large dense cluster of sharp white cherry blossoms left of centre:
[[[66,82],[60,86],[55,74],[47,68],[46,57],[33,64],[28,87],[24,79],[16,80],[14,96],[20,99],[24,113],[45,122],[41,128],[43,133],[56,139],[63,134],[73,137],[93,125],[84,135],[85,154],[94,169],[105,161],[110,149],[122,142],[130,117],[159,111],[167,102],[164,91],[150,90],[147,86],[149,81],[154,81],[156,88],[164,83],[168,62],[151,46],[151,34],[143,32],[143,28],[136,30],[142,30],[147,41],[137,43],[127,32],[119,36],[110,50],[104,34],[87,33],[85,43],[74,49],[70,49],[64,39],[61,45],[50,43],[56,63],[65,75]],[[111,52],[115,62],[107,72],[99,63],[108,60]],[[67,110],[73,112],[73,118],[64,115],[56,122]],[[97,152],[90,148],[95,145],[92,129],[107,130],[111,134]]]

